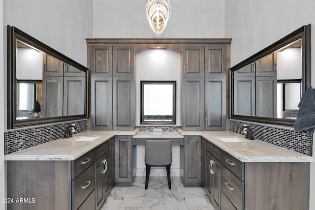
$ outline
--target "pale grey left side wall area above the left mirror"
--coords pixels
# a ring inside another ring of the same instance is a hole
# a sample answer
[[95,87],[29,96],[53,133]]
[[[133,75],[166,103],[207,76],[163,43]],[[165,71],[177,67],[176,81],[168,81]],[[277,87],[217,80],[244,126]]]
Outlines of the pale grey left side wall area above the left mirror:
[[4,0],[4,25],[14,26],[80,64],[92,37],[92,0]]

